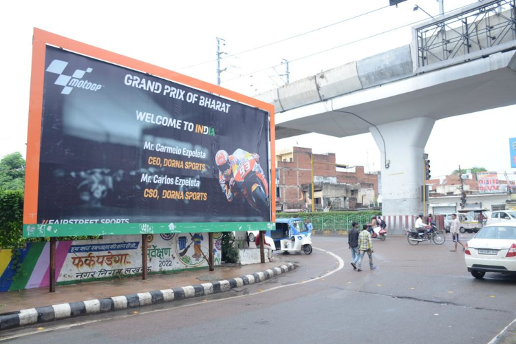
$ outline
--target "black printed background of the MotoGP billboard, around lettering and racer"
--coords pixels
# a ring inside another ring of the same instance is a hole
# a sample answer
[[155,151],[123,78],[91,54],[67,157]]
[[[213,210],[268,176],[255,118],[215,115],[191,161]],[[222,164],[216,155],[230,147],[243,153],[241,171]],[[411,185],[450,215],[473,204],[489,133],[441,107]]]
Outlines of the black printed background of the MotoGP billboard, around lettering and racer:
[[[38,223],[48,219],[128,219],[149,222],[270,222],[247,202],[228,202],[219,186],[215,153],[236,149],[258,153],[268,179],[268,113],[169,80],[136,72],[47,46],[45,70],[55,59],[66,61],[63,74],[87,70],[81,80],[101,85],[97,91],[74,87],[61,94],[57,74],[45,72],[39,175]],[[228,103],[226,114],[125,85],[127,74],[170,85],[199,96]],[[174,129],[136,119],[136,111],[167,116],[215,129],[215,136]],[[206,158],[143,149],[144,142],[202,149]],[[206,171],[160,168],[149,156],[201,162]],[[199,187],[183,191],[207,193],[205,202],[155,200],[143,197],[146,188],[180,190],[180,186],[141,182],[142,173],[195,178]]]

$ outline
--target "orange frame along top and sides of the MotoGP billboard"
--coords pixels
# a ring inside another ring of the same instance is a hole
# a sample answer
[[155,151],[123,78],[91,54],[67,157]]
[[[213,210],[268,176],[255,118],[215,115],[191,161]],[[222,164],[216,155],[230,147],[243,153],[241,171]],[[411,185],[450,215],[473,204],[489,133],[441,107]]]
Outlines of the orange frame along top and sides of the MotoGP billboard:
[[[130,58],[115,52],[94,47],[86,43],[74,41],[58,34],[34,28],[32,39],[32,72],[30,79],[30,105],[27,138],[27,162],[25,170],[25,204],[23,208],[23,224],[34,225],[37,223],[38,192],[39,192],[39,162],[41,149],[41,123],[43,116],[43,81],[45,74],[45,52],[47,45],[62,48],[69,52],[96,58],[100,61],[113,63],[122,67],[135,69],[138,72],[149,73],[175,83],[200,89],[217,96],[235,100],[245,105],[257,107],[267,111],[270,115],[270,207],[271,222],[276,221],[276,171],[275,171],[275,112],[274,105],[264,103],[261,100],[244,96],[237,92],[225,89],[205,81],[173,72],[169,69],[145,63],[135,58]],[[25,227],[25,226],[24,226]],[[132,234],[132,233],[131,233]],[[86,234],[85,234],[86,235]]]

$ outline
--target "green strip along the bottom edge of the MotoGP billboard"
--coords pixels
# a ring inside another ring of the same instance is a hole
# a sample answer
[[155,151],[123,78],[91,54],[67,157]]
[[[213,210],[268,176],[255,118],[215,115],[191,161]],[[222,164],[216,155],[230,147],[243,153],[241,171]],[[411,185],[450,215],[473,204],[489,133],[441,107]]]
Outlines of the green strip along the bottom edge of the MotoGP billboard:
[[78,237],[163,233],[237,232],[270,230],[272,222],[180,222],[142,224],[24,224],[23,237]]

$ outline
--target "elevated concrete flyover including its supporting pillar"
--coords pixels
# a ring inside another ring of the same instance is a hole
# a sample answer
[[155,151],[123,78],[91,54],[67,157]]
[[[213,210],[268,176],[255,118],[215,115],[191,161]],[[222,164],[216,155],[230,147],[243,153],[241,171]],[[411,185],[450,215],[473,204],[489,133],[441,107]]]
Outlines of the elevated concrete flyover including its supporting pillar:
[[414,215],[433,124],[516,104],[515,49],[515,0],[484,0],[414,27],[410,45],[257,98],[275,105],[277,139],[370,131],[383,160],[383,213]]

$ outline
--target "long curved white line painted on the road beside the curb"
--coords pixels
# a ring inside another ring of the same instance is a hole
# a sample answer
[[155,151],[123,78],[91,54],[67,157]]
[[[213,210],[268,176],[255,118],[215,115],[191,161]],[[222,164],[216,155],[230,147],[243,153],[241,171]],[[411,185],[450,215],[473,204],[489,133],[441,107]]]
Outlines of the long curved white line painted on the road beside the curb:
[[[138,316],[141,316],[143,314],[151,314],[151,313],[155,313],[155,312],[165,312],[167,310],[177,310],[179,308],[193,307],[195,305],[205,305],[206,303],[227,301],[227,300],[231,300],[231,299],[238,299],[240,297],[251,297],[251,296],[254,296],[254,295],[257,295],[257,294],[264,294],[264,292],[271,292],[272,290],[277,290],[277,289],[281,289],[281,288],[297,286],[299,284],[310,283],[310,282],[313,282],[313,281],[317,281],[319,279],[324,279],[325,277],[333,275],[338,270],[342,270],[344,268],[344,259],[342,259],[341,257],[338,257],[338,255],[334,254],[333,252],[330,252],[330,251],[327,251],[327,250],[323,250],[322,248],[316,248],[316,247],[313,247],[313,246],[312,246],[312,248],[314,248],[314,250],[320,250],[320,251],[326,252],[328,255],[332,255],[335,259],[338,260],[338,266],[336,268],[334,268],[334,270],[330,270],[330,271],[326,272],[324,275],[321,275],[319,277],[310,279],[308,281],[291,283],[291,284],[285,284],[283,286],[277,286],[277,287],[266,289],[266,290],[261,290],[260,289],[258,292],[251,292],[249,294],[237,295],[235,297],[225,297],[224,299],[216,299],[216,300],[210,300],[210,301],[201,301],[201,302],[189,303],[188,305],[180,305],[178,307],[171,307],[171,308],[166,308],[166,309],[161,309],[161,310],[149,310],[148,312],[139,312]],[[36,334],[36,333],[50,332],[50,331],[62,330],[62,329],[66,329],[66,328],[70,328],[70,327],[75,327],[75,326],[88,325],[88,324],[91,324],[91,323],[98,323],[100,321],[109,321],[109,320],[114,320],[114,319],[124,319],[124,318],[129,318],[129,316],[135,316],[135,315],[136,314],[111,316],[110,318],[81,321],[80,323],[74,323],[74,324],[67,324],[67,325],[60,325],[60,326],[55,326],[55,327],[49,327],[49,328],[45,328],[43,330],[35,330],[35,331],[32,331],[32,332],[26,332],[26,333],[21,333],[21,334],[13,334],[12,336],[0,337],[0,341],[6,341],[8,339],[20,338],[20,337],[23,337],[23,336],[30,336],[31,334]],[[23,327],[20,327],[20,328],[23,328]]]

